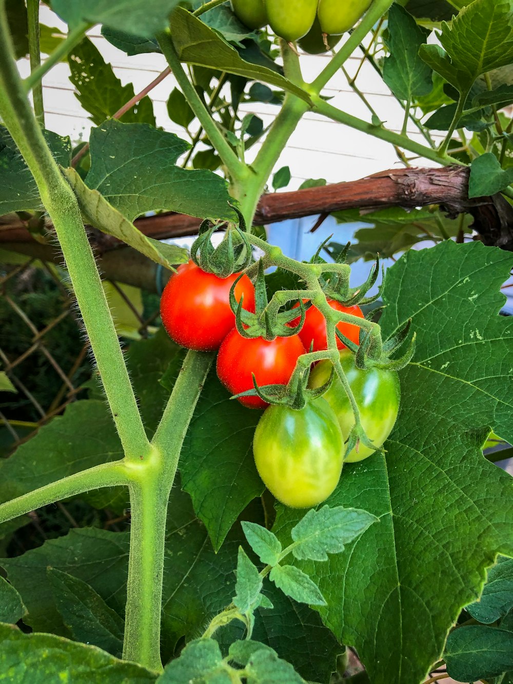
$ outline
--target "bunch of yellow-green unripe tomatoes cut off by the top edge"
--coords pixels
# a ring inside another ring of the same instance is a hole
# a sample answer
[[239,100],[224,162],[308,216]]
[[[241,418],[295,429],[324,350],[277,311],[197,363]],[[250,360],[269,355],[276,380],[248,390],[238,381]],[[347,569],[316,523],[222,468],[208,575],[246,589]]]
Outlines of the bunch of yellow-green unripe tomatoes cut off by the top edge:
[[250,29],[269,24],[276,36],[313,55],[339,42],[369,9],[372,0],[231,0],[233,12]]

